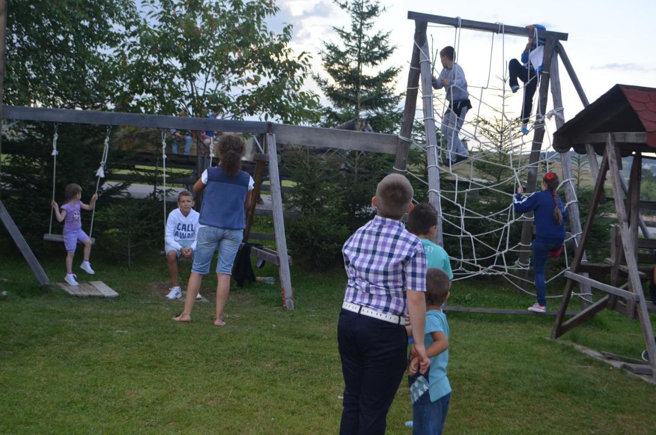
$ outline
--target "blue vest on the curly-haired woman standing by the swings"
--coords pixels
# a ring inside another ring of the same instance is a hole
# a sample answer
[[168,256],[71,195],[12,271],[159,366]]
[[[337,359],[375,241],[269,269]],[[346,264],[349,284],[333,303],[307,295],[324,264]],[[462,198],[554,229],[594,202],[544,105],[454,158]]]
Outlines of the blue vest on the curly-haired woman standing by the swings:
[[239,171],[236,177],[228,177],[220,166],[207,168],[207,186],[198,222],[217,228],[244,229],[244,202],[250,179],[247,172]]

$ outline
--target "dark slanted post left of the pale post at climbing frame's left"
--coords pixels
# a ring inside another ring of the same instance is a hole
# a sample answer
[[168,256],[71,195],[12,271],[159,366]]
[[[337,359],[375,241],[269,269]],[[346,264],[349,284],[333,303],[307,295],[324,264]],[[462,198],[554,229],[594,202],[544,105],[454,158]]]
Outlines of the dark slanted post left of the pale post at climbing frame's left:
[[417,110],[417,91],[419,90],[419,47],[426,41],[426,27],[427,23],[425,21],[415,22],[415,37],[413,39],[415,43],[413,44],[410,60],[410,71],[408,72],[405,108],[403,109],[403,120],[401,120],[396,160],[394,160],[394,172],[396,173],[405,173],[407,169],[412,127],[415,123],[415,110]]

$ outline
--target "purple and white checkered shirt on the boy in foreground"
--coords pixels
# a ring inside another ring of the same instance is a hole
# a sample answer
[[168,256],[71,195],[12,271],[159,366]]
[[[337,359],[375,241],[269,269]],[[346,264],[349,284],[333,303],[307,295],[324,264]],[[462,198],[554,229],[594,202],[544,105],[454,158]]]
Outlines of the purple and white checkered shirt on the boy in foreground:
[[426,291],[424,247],[400,221],[376,216],[346,240],[342,254],[346,302],[403,315],[405,290]]

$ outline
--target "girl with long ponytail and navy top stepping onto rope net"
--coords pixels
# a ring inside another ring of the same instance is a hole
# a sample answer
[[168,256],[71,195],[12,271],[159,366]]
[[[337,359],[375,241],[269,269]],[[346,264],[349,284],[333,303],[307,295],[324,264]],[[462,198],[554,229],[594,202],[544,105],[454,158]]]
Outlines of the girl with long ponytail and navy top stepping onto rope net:
[[565,242],[565,210],[556,189],[560,182],[558,175],[549,172],[542,179],[542,190],[522,198],[522,186],[517,188],[513,204],[516,213],[533,212],[535,219],[535,239],[531,243],[533,251],[533,279],[537,302],[530,306],[529,311],[546,312],[546,283],[544,269],[548,255],[558,257],[562,253]]

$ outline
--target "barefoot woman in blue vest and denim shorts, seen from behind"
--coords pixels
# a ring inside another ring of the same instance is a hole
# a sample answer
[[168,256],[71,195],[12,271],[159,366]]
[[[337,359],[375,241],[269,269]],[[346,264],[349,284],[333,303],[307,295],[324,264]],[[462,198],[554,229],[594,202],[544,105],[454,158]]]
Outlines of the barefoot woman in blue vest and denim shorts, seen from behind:
[[209,273],[210,263],[218,248],[216,263],[216,326],[224,326],[223,309],[230,291],[230,275],[239,244],[246,227],[245,209],[251,204],[251,191],[255,182],[241,170],[241,156],[245,143],[241,137],[222,135],[218,142],[221,164],[207,168],[194,185],[195,193],[205,191],[198,219],[198,236],[194,265],[187,285],[184,311],[173,320],[191,321],[196,294],[203,275]]

